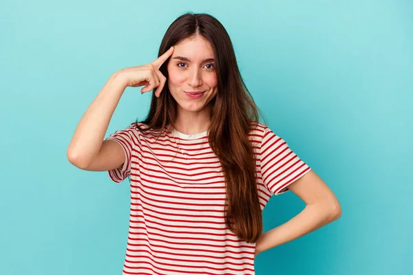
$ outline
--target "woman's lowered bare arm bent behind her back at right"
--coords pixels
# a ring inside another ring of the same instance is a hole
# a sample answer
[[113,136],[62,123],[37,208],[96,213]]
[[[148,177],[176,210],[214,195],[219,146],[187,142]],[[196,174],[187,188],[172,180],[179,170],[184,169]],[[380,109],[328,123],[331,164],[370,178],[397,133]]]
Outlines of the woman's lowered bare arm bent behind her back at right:
[[293,219],[263,233],[256,243],[255,256],[341,217],[341,206],[337,197],[313,170],[290,184],[288,189],[300,197],[306,207]]

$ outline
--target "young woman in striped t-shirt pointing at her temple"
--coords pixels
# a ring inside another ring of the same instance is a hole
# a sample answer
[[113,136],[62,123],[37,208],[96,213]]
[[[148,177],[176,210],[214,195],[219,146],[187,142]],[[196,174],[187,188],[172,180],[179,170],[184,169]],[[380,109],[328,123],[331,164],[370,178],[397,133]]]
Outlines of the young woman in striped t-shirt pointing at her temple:
[[[155,90],[147,118],[104,140],[126,87]],[[265,124],[245,87],[229,35],[208,14],[184,14],[158,58],[120,69],[79,122],[67,149],[84,170],[130,179],[123,274],[255,274],[255,256],[341,215],[337,198]],[[306,207],[262,233],[272,195]]]

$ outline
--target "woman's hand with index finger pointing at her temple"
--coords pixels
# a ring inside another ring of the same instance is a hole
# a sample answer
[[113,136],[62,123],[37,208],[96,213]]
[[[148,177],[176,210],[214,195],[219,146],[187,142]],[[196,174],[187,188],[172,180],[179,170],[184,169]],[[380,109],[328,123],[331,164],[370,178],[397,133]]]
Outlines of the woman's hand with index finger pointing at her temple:
[[120,69],[117,72],[125,80],[126,87],[143,87],[140,94],[146,93],[158,87],[155,96],[159,97],[167,78],[160,72],[159,68],[173,53],[173,47],[169,48],[165,54],[162,54],[151,63]]

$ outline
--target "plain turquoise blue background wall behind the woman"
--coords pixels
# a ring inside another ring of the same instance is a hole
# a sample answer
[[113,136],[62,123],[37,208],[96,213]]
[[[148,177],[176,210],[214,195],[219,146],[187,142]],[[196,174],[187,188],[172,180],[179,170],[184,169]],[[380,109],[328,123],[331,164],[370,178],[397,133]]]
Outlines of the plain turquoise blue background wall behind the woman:
[[[129,181],[66,158],[116,70],[207,12],[229,32],[268,126],[335,192],[337,221],[257,256],[256,274],[413,274],[412,1],[0,2],[0,274],[120,274]],[[149,109],[128,87],[107,135]],[[304,208],[293,192],[264,231]]]

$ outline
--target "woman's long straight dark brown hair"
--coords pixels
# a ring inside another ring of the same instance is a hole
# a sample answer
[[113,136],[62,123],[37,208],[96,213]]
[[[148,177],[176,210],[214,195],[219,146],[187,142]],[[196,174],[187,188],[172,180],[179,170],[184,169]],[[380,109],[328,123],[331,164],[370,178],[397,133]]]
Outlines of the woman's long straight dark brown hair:
[[[242,80],[229,34],[224,26],[209,14],[182,14],[169,26],[160,44],[158,56],[183,39],[201,35],[207,39],[215,54],[218,93],[209,102],[211,124],[209,145],[220,159],[226,183],[225,223],[238,238],[256,243],[262,234],[262,212],[257,193],[255,155],[248,133],[259,120],[260,109]],[[168,78],[166,61],[160,72]],[[261,112],[260,112],[261,113]],[[140,123],[141,131],[173,126],[177,116],[177,102],[169,93],[168,85],[156,98],[152,93],[147,118]],[[229,142],[231,140],[231,142]]]

